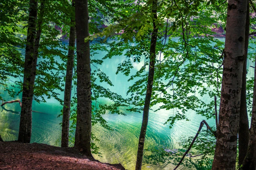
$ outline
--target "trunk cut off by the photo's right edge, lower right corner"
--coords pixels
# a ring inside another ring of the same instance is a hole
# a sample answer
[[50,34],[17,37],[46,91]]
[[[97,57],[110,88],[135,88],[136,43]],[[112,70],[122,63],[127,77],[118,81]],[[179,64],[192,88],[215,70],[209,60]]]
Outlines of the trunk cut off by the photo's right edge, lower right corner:
[[[256,58],[256,56],[255,56]],[[255,63],[256,68],[256,63]],[[256,69],[254,70],[254,87],[252,101],[251,127],[249,129],[249,146],[243,162],[243,170],[256,169]]]

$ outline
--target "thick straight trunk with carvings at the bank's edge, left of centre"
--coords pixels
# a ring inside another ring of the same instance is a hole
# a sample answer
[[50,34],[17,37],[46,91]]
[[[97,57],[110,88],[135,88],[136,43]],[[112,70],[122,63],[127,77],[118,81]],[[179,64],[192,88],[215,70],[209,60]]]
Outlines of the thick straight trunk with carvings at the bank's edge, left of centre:
[[76,0],[77,33],[77,127],[75,147],[85,155],[92,157],[92,99],[91,99],[91,65],[89,36],[88,0]]

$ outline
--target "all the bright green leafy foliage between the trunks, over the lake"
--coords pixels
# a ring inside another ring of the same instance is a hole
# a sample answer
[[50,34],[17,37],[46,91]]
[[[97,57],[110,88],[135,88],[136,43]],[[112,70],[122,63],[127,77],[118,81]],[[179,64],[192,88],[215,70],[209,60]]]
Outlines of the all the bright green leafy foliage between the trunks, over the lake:
[[[154,14],[151,4],[152,0],[89,1],[91,36],[85,38],[85,41],[91,41],[91,57],[99,51],[107,51],[102,59],[91,60],[92,125],[99,123],[111,130],[108,122],[103,119],[104,114],[125,115],[119,110],[120,107],[138,113],[143,110],[153,29]],[[0,7],[0,86],[14,97],[22,92],[28,0],[4,0],[0,2]],[[153,111],[156,113],[161,109],[170,112],[170,117],[165,122],[170,128],[178,120],[189,120],[190,111],[207,119],[215,119],[214,95],[217,96],[218,105],[224,43],[214,37],[217,33],[212,29],[221,27],[225,30],[226,7],[225,0],[163,0],[158,3],[158,19],[154,22],[159,31],[151,107],[155,106]],[[46,0],[34,87],[34,100],[37,102],[54,98],[63,105],[60,93],[64,91],[68,50],[68,45],[63,41],[68,40],[69,28],[74,25],[70,19],[74,15],[70,0]],[[251,15],[251,31],[254,26],[255,17]],[[253,38],[250,38],[249,50],[253,53],[249,53],[248,58],[254,60]],[[100,65],[106,59],[121,55],[125,59],[118,65],[116,74],[124,74],[128,76],[128,81],[134,82],[128,87],[126,98],[101,85],[104,82],[113,86],[113,83],[107,73],[101,71]],[[132,62],[142,63],[135,74],[131,74]],[[70,115],[71,145],[76,128],[76,78],[75,63]],[[20,89],[19,92],[13,90],[15,87]],[[253,79],[247,78],[249,108],[252,106],[252,92]],[[206,96],[211,100],[206,102]],[[111,102],[101,103],[100,99]],[[148,149],[151,154],[145,155],[145,162],[177,164],[192,138],[182,138],[179,143],[182,149],[170,150],[164,145]],[[97,140],[97,136],[92,134],[92,151],[99,155],[99,148],[93,142]],[[203,131],[189,152],[190,155],[185,157],[183,165],[210,169],[208,165],[213,159],[214,145],[213,135],[209,131]]]

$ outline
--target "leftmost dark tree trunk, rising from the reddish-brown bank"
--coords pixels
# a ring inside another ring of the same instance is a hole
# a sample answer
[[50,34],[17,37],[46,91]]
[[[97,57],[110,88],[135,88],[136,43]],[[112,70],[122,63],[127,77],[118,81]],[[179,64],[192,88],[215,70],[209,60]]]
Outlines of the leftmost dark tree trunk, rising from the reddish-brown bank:
[[36,20],[37,20],[37,6],[38,0],[29,1],[29,18],[26,39],[25,65],[24,65],[24,79],[23,79],[23,93],[22,93],[22,108],[20,116],[20,129],[18,141],[29,143],[31,136],[29,136],[31,129],[28,129],[28,119],[31,118],[32,111],[32,97],[33,89],[31,84],[31,74],[33,66],[33,52],[36,39]]

